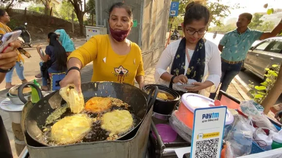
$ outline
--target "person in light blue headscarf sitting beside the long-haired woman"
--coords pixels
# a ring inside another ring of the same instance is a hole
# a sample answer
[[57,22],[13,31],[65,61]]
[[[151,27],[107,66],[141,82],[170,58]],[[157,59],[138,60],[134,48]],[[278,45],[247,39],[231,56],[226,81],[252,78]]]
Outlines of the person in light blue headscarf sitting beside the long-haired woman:
[[65,48],[67,55],[69,56],[71,52],[75,49],[75,46],[64,29],[56,30],[55,33],[59,35],[59,42],[61,42],[62,46]]

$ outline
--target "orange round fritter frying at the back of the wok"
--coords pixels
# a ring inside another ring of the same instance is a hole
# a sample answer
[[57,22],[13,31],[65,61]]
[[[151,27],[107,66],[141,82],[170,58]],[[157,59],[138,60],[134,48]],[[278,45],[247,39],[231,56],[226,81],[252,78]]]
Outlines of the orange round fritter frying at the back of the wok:
[[94,96],[85,104],[85,110],[93,113],[109,110],[112,107],[112,100],[108,97]]

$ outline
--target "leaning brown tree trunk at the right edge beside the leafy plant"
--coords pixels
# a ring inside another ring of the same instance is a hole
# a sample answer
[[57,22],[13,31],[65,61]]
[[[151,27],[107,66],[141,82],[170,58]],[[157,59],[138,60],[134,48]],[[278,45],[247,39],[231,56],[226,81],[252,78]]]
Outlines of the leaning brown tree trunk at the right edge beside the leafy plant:
[[[282,65],[282,63],[280,65]],[[275,104],[281,93],[282,93],[282,67],[279,70],[276,82],[274,83],[272,89],[270,90],[270,92],[262,102],[262,106],[264,107],[265,114],[269,112],[270,108]]]

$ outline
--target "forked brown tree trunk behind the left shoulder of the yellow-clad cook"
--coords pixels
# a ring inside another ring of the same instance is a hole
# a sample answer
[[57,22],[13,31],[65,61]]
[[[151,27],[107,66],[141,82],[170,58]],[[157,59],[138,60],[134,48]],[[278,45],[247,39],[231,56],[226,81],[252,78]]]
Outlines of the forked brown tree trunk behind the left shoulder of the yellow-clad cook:
[[[71,2],[72,6],[74,7],[74,12],[79,22],[79,32],[81,35],[83,35],[83,16],[85,15],[85,13],[88,13],[88,11],[90,11],[91,8],[87,8],[86,0],[68,0],[68,1]],[[92,1],[92,0],[88,0],[88,1]]]

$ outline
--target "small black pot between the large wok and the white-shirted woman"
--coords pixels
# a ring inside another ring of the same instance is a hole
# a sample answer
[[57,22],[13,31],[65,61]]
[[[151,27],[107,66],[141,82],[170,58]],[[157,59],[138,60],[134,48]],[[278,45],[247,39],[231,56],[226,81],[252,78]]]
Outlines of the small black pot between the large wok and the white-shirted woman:
[[175,90],[168,88],[165,85],[159,84],[145,85],[142,90],[148,94],[148,92],[150,92],[153,86],[158,87],[159,93],[165,93],[166,95],[170,95],[174,98],[171,100],[163,100],[157,97],[154,103],[153,111],[162,115],[170,115],[174,110],[176,104],[179,102],[181,96]]

